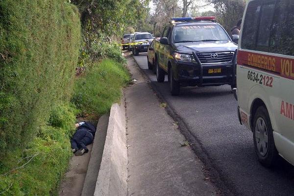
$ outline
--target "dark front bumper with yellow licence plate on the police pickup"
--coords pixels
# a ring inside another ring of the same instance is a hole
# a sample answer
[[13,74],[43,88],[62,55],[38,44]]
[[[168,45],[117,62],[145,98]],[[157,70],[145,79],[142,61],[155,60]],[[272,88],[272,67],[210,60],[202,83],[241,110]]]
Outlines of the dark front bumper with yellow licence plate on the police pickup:
[[[175,62],[178,73],[175,79],[181,83],[181,86],[232,85],[236,81],[236,65],[232,63],[235,62],[235,54],[232,62],[220,64],[201,64],[196,54],[194,58],[196,63]],[[209,73],[212,70],[221,70],[221,72]]]

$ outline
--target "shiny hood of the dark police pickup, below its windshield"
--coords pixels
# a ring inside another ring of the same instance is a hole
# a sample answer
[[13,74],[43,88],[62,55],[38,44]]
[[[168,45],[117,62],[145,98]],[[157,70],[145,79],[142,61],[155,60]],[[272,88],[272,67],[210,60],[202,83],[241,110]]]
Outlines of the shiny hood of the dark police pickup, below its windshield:
[[177,51],[184,53],[235,51],[238,48],[238,45],[231,41],[176,43],[174,46]]

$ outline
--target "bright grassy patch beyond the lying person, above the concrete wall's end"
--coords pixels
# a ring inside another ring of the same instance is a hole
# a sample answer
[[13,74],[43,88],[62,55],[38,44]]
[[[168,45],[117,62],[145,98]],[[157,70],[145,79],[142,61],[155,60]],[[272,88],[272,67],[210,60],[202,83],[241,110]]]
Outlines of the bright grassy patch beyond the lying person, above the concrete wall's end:
[[84,74],[75,82],[72,100],[82,113],[95,116],[108,112],[120,100],[122,87],[130,79],[126,68],[110,59],[95,63]]

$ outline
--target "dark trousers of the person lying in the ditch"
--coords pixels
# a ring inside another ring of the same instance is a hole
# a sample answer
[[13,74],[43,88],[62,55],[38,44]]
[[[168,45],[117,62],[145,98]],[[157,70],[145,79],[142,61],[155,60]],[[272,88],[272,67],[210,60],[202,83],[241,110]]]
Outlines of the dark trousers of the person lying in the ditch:
[[85,149],[88,152],[87,145],[91,144],[94,140],[92,133],[87,129],[78,129],[71,139],[72,149]]

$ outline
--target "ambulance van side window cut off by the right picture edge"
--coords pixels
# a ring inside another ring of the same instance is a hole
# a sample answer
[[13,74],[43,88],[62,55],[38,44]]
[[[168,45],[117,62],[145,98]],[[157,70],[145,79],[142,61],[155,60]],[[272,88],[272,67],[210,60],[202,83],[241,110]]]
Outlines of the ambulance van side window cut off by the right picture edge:
[[277,1],[270,37],[270,52],[294,56],[293,10],[293,0]]

